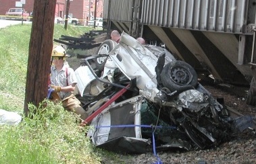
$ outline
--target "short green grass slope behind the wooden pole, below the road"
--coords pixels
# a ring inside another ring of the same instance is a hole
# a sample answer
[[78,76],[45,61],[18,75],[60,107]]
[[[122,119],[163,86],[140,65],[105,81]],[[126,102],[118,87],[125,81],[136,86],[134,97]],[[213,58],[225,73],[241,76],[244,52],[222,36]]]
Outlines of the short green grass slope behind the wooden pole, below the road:
[[[68,26],[64,30],[63,25],[56,24],[53,38],[61,35],[78,37],[92,28],[82,26]],[[23,111],[24,92],[26,84],[26,66],[28,63],[28,46],[30,40],[31,24],[9,26],[0,29],[0,108]],[[57,44],[57,43],[55,43]],[[6,96],[7,95],[7,96]],[[12,104],[3,99],[15,99]],[[21,107],[20,109],[19,106]]]

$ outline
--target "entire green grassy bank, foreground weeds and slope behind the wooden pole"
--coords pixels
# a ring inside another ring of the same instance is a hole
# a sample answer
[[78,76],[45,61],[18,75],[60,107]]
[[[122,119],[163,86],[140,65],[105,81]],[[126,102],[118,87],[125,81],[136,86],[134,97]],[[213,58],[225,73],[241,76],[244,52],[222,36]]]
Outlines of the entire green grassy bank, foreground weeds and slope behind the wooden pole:
[[[80,36],[92,28],[55,25],[54,38]],[[0,109],[23,113],[31,24],[0,29]],[[45,108],[44,105],[47,104]],[[95,149],[76,116],[61,104],[29,104],[33,119],[17,126],[0,126],[1,163],[124,163],[120,155]],[[34,111],[38,111],[34,113]]]

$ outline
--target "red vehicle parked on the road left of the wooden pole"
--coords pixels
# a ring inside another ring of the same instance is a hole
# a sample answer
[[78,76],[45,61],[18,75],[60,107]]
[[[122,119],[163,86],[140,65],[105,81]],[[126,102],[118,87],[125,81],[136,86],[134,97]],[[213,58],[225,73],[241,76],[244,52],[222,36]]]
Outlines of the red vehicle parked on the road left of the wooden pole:
[[[23,13],[22,13],[23,11]],[[22,16],[23,14],[23,16]],[[5,19],[9,20],[29,20],[29,13],[25,11],[25,9],[22,8],[10,8],[9,11],[5,13],[6,17]]]

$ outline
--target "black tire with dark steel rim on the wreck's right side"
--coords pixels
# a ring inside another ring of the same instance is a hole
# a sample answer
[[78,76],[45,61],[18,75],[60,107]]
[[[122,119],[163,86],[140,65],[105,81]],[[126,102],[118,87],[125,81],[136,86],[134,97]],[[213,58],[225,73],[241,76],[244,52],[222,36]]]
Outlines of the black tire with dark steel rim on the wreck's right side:
[[175,60],[163,67],[161,82],[170,91],[180,93],[197,85],[197,73],[188,63]]

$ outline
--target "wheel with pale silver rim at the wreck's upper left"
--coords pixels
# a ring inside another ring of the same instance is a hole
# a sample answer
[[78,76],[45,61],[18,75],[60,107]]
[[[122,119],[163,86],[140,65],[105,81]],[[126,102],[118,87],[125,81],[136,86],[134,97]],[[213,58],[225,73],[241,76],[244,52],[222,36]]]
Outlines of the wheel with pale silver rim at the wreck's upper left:
[[[105,40],[99,46],[99,49],[97,50],[97,54],[109,54],[109,52],[111,50],[113,50],[113,48],[115,48],[116,45],[118,45],[118,43],[113,41],[113,40]],[[98,69],[99,71],[103,71],[104,65],[105,65],[106,62],[107,62],[107,57],[106,56],[96,58],[96,60],[95,60],[96,69]]]

